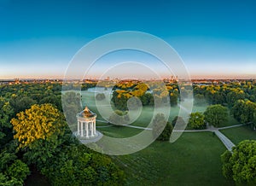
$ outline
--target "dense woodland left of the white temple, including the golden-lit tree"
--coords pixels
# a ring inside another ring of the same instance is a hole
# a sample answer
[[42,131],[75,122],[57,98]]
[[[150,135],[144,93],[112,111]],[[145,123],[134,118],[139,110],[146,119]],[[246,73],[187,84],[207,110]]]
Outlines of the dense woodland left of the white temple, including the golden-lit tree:
[[1,85],[0,94],[1,185],[22,185],[34,170],[53,185],[124,183],[108,156],[73,137],[61,112],[61,84]]

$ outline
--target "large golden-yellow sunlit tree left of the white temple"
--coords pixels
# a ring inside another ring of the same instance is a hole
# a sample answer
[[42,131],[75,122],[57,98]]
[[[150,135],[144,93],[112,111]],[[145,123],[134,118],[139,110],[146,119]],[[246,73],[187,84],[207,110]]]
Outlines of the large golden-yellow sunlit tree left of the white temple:
[[30,146],[38,139],[49,141],[55,133],[61,133],[61,113],[51,104],[32,105],[25,112],[17,113],[17,119],[11,119],[16,132],[15,138],[20,148]]

